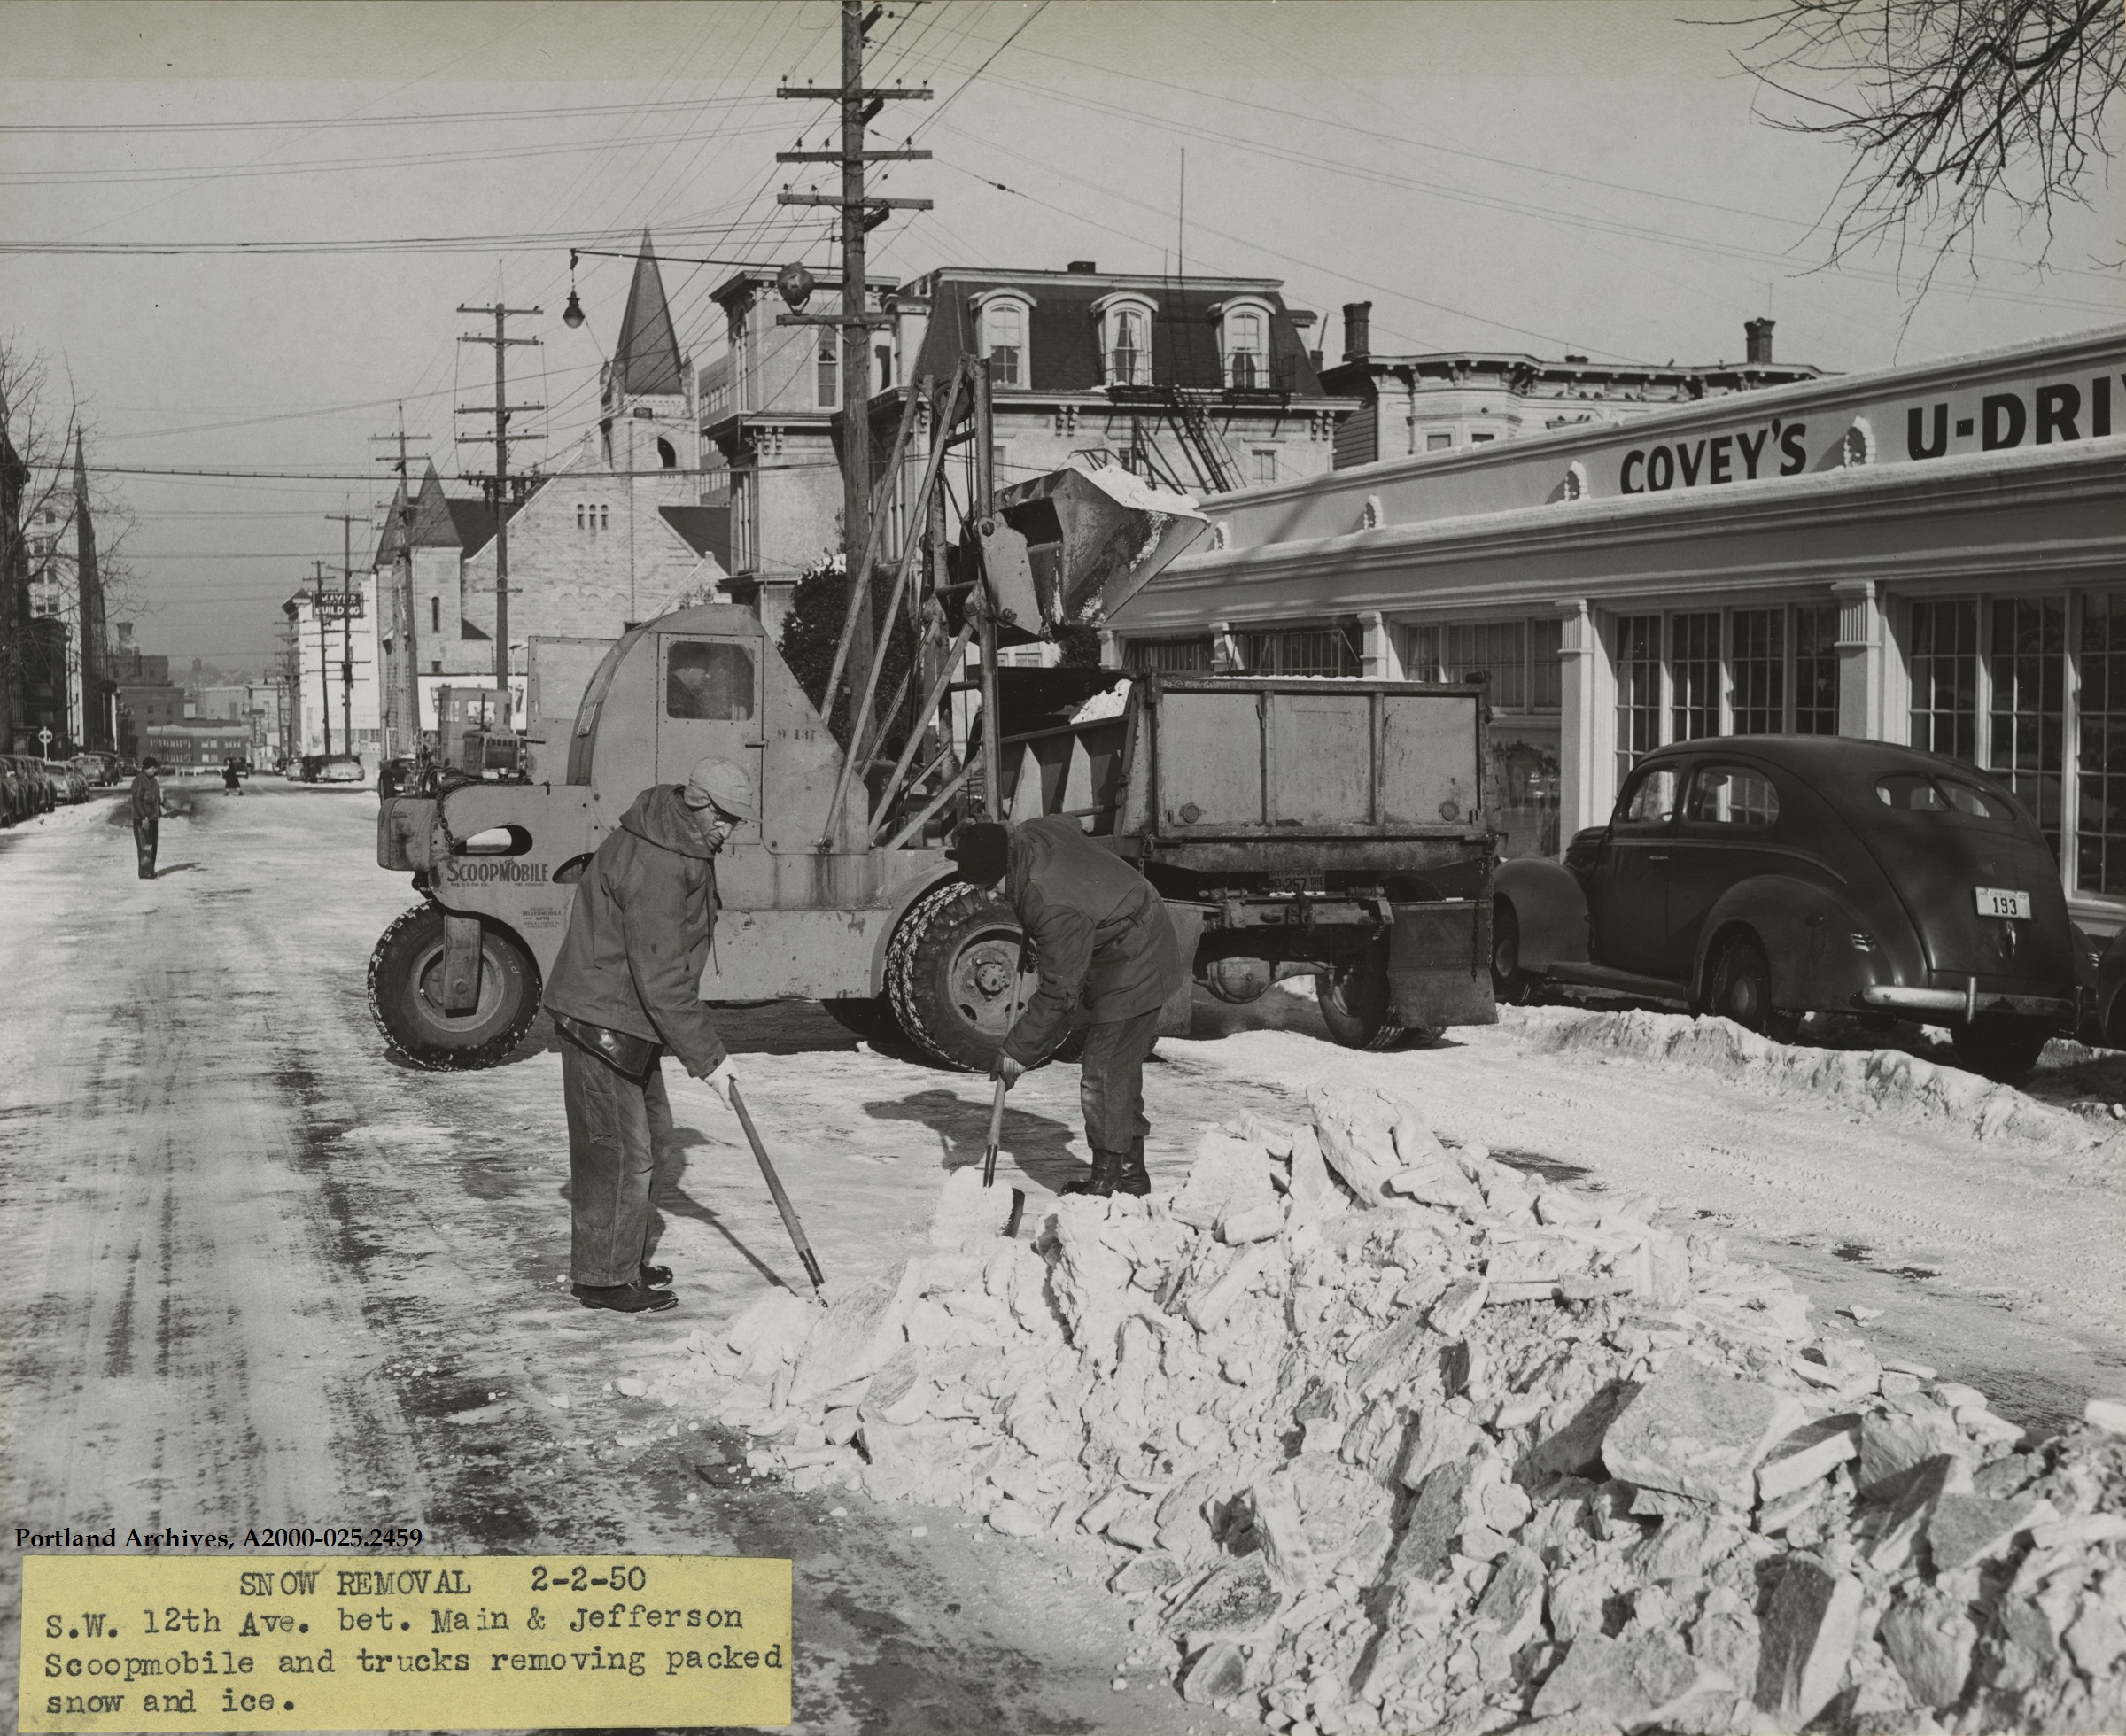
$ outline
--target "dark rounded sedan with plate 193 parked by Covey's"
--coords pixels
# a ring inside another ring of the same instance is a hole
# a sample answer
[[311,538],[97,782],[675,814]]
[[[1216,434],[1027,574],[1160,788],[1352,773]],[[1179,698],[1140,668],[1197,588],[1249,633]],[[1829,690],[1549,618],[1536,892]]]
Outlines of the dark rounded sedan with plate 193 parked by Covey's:
[[1886,742],[1737,735],[1641,759],[1565,867],[1499,871],[1492,975],[1682,1001],[1790,1037],[1809,1011],[1945,1024],[2018,1079],[2075,1028],[2052,850],[1996,778]]

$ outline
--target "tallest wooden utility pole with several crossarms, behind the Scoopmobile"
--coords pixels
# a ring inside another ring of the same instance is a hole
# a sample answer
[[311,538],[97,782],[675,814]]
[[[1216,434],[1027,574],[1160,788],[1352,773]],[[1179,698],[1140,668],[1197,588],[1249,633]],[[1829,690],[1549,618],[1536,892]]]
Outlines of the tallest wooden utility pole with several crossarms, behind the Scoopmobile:
[[[865,151],[863,130],[889,102],[929,102],[927,89],[863,85],[863,36],[884,15],[884,6],[865,11],[863,0],[842,0],[842,85],[782,85],[780,98],[829,98],[842,104],[840,151],[778,151],[778,164],[840,164],[840,193],[776,193],[776,204],[840,206],[842,210],[842,310],[838,314],[778,314],[776,325],[819,325],[842,334],[842,563],[850,595],[870,582],[859,572],[872,546],[872,338],[891,329],[887,314],[863,310],[863,238],[895,210],[929,210],[929,200],[882,200],[863,191],[863,166],[878,161],[923,161],[929,151]],[[833,342],[827,331],[821,342]],[[891,623],[889,623],[891,629]],[[848,642],[848,667],[863,669],[872,661],[872,610],[857,612],[855,637]],[[833,695],[827,697],[833,703]],[[861,731],[861,722],[853,722]],[[855,750],[855,748],[853,748]]]

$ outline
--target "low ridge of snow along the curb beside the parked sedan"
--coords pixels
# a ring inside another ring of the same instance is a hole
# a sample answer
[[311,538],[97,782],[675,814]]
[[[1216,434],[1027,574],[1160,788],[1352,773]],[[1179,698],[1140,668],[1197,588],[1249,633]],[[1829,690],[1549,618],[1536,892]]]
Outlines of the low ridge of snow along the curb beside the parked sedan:
[[1816,1050],[1775,1043],[1724,1018],[1652,1011],[1529,1007],[1518,1024],[1533,1054],[1624,1056],[1650,1067],[1709,1073],[1777,1094],[1926,1116],[1973,1139],[2037,1145],[2090,1143],[2088,1124],[1960,1067],[1903,1050]]

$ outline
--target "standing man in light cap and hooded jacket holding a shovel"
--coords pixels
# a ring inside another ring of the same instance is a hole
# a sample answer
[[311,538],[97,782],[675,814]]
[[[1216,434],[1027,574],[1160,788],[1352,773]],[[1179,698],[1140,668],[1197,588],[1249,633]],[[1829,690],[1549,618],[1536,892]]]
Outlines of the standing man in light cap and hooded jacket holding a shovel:
[[587,1309],[678,1303],[663,1288],[672,1269],[651,1264],[663,1232],[657,1147],[672,1147],[659,1067],[672,1050],[731,1103],[736,1073],[699,986],[716,926],[714,858],[755,818],[746,769],[704,759],[685,784],[642,790],[576,884],[546,1009],[568,1105],[568,1275]]

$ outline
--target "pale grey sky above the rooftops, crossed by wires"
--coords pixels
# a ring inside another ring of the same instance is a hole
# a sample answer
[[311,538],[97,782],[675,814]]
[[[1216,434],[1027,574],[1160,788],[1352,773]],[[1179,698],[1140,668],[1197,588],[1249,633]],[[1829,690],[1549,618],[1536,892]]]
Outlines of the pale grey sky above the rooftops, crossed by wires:
[[[2062,212],[2045,272],[2009,225],[1918,306],[1892,255],[1822,270],[1845,159],[1767,123],[1731,59],[1745,32],[1690,21],[1756,8],[889,0],[872,74],[938,100],[878,130],[938,155],[887,191],[935,210],[878,229],[872,268],[1161,272],[1180,246],[1188,272],[1284,278],[1331,355],[1350,300],[1373,302],[1376,351],[1637,361],[1735,359],[1771,312],[1782,361],[1833,370],[2126,312],[2113,189]],[[568,331],[572,244],[631,249],[648,225],[665,255],[833,270],[827,225],[774,204],[799,174],[774,153],[829,142],[827,106],[774,87],[833,76],[831,0],[0,0],[0,334],[70,370],[91,463],[372,474],[366,436],[404,399],[453,476],[451,406],[493,389],[455,308],[497,293],[544,308],[512,325],[544,346],[510,365],[559,455],[595,421],[627,287],[623,261],[585,259],[589,321]],[[200,251],[232,242],[330,251]],[[723,348],[725,272],[665,270],[697,363]],[[272,652],[313,557],[338,563],[325,514],[381,499],[113,484],[138,516],[147,648],[232,663]]]

